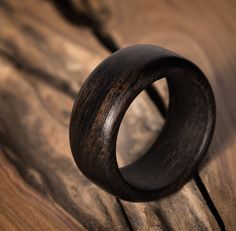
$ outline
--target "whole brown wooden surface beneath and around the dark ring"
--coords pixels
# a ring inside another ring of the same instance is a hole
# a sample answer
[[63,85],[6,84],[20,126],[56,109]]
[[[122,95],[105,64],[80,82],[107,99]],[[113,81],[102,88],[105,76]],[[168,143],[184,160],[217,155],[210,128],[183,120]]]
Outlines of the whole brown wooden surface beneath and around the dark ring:
[[[72,103],[89,72],[109,54],[104,45],[112,50],[116,42],[171,49],[209,77],[218,118],[200,180],[226,230],[235,230],[235,1],[72,2],[74,20],[55,2],[0,1],[1,229],[26,230],[39,220],[42,227],[64,230],[223,229],[194,180],[162,200],[129,203],[98,189],[75,166],[68,143]],[[168,98],[165,89],[163,84],[161,92]],[[120,165],[146,150],[162,125],[163,118],[142,93],[119,132]],[[24,208],[24,197],[17,203],[22,188],[32,195]],[[17,216],[19,209],[25,216]]]

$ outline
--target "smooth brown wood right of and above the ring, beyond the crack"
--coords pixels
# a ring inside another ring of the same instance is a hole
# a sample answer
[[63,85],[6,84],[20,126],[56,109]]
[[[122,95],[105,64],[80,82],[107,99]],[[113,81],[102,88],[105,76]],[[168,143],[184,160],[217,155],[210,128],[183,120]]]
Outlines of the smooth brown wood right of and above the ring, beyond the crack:
[[163,46],[195,62],[209,77],[216,96],[217,127],[200,176],[226,229],[235,230],[236,2],[149,0],[117,4],[104,0],[102,7],[109,12],[104,27],[121,47],[134,43]]

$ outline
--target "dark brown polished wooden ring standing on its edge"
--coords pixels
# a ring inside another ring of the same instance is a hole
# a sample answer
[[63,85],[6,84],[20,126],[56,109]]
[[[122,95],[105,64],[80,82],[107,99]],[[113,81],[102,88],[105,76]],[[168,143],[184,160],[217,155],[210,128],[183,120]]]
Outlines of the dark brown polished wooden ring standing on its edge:
[[[137,95],[165,77],[169,110],[150,150],[119,169],[116,140]],[[107,192],[128,201],[150,201],[175,192],[196,172],[215,127],[215,101],[202,71],[152,45],[124,48],[106,58],[82,86],[70,122],[70,144],[79,169]]]

